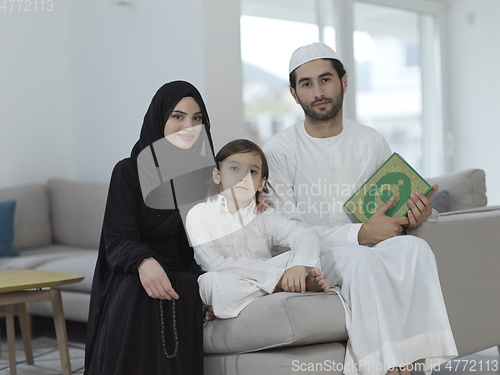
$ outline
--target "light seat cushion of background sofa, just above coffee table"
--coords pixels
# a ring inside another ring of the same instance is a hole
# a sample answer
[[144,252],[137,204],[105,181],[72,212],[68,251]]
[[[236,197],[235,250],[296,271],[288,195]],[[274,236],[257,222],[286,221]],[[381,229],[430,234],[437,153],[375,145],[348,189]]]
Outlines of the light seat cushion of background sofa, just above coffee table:
[[[97,250],[93,249],[94,252]],[[89,255],[89,249],[81,249],[63,245],[42,246],[20,250],[20,257],[0,258],[0,270],[36,269],[45,263],[58,259],[75,258]],[[55,270],[54,270],[55,271]],[[69,271],[68,271],[69,272]]]

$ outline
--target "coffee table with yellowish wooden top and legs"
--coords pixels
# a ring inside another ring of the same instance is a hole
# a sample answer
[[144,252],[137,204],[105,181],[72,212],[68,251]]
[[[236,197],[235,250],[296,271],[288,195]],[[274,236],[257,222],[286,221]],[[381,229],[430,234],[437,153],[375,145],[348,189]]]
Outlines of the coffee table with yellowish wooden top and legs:
[[[7,323],[7,341],[9,346],[10,373],[15,375],[16,369],[16,337],[14,331],[14,309],[19,315],[19,325],[26,352],[26,362],[34,364],[31,332],[26,313],[26,302],[50,301],[56,329],[57,346],[61,357],[63,375],[71,374],[69,362],[68,336],[61,300],[61,291],[53,286],[72,284],[82,281],[84,276],[74,273],[8,270],[0,271],[0,307],[4,306]],[[42,289],[49,288],[49,289]]]

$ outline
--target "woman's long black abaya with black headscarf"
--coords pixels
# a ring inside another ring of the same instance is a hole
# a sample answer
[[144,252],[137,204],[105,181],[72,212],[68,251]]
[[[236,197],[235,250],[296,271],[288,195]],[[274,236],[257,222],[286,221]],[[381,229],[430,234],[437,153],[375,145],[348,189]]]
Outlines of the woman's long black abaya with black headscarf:
[[[197,283],[201,270],[179,210],[144,203],[137,166],[140,151],[163,137],[166,118],[187,95],[202,109],[211,148],[201,96],[192,85],[174,82],[158,90],[131,157],[113,170],[92,284],[86,375],[203,374],[204,312]],[[213,151],[207,154],[213,160]],[[155,193],[162,189],[171,189],[171,184],[163,184]],[[162,265],[179,295],[174,309],[170,301],[149,297],[141,284],[137,268],[149,257]]]

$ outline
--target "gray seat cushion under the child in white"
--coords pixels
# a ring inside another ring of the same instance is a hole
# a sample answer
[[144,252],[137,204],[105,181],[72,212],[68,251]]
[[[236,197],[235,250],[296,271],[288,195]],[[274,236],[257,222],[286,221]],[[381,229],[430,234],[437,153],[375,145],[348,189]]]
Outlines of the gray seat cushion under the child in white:
[[205,324],[205,353],[242,353],[347,340],[344,307],[335,292],[274,293],[237,318]]

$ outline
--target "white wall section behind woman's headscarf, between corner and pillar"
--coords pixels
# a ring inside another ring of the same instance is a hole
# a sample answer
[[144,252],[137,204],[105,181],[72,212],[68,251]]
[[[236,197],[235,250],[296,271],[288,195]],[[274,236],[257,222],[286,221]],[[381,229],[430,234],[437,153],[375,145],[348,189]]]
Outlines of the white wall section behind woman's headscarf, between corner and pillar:
[[109,180],[165,82],[184,79],[204,91],[200,3],[71,2],[72,178]]

